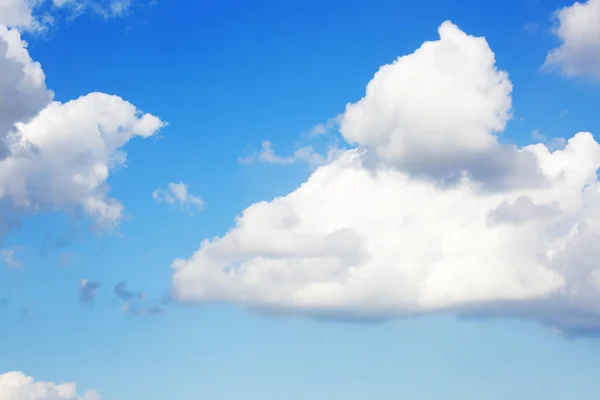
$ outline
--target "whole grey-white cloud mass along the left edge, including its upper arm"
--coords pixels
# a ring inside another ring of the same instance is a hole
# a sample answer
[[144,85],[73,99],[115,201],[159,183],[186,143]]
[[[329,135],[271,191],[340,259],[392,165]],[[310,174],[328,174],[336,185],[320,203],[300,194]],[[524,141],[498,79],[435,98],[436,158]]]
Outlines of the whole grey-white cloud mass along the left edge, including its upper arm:
[[123,213],[109,196],[124,146],[163,122],[117,96],[53,101],[19,31],[0,25],[0,233],[23,213],[74,210],[111,227]]

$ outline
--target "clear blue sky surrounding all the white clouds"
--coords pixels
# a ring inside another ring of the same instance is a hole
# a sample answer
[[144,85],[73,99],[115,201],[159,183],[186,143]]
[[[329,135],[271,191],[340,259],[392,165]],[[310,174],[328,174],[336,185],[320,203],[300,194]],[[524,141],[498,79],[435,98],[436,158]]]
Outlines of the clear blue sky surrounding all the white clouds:
[[[24,34],[55,99],[117,94],[168,125],[127,144],[111,173],[125,218],[98,234],[86,218],[40,213],[5,238],[0,372],[77,382],[103,399],[595,399],[600,342],[535,322],[452,314],[379,324],[269,317],[232,305],[164,305],[170,265],[223,235],[249,205],[297,188],[299,161],[242,163],[332,137],[318,123],[359,100],[377,69],[451,20],[485,36],[514,84],[502,140],[518,145],[600,131],[600,86],[541,66],[552,15],[570,1],[159,1]],[[185,182],[204,207],[152,194]],[[82,279],[99,282],[90,304]],[[156,315],[122,312],[113,288],[146,294]]]

